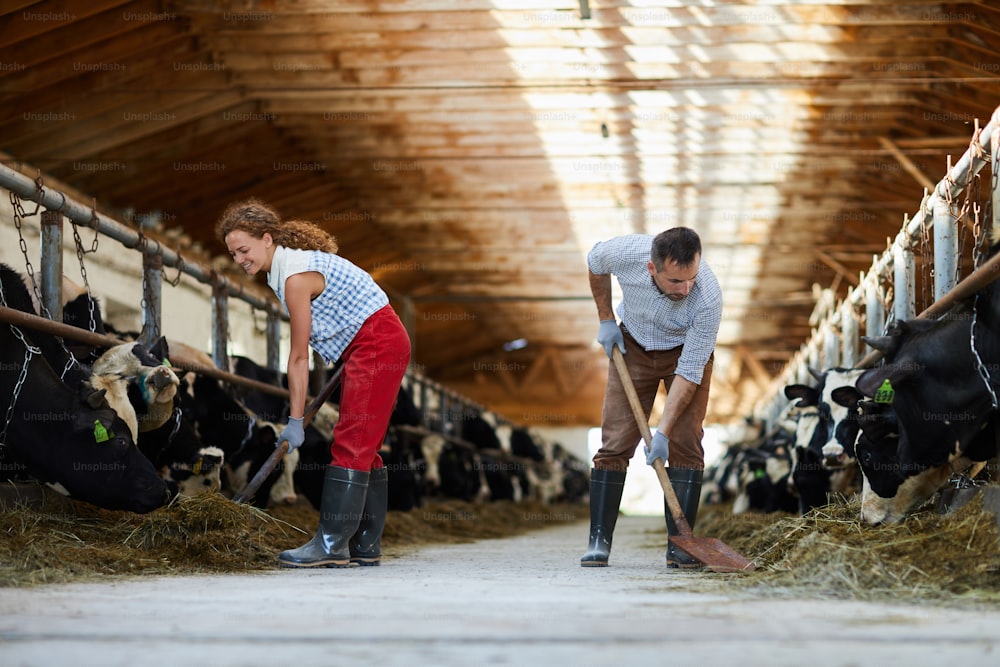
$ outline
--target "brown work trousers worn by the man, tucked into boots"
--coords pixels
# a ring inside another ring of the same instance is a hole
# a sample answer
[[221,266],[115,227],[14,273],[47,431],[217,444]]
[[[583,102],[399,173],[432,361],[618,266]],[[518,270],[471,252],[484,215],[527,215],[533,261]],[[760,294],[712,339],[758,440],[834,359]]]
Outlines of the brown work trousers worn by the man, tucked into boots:
[[[650,410],[653,409],[653,400],[656,398],[660,382],[663,381],[666,390],[670,391],[674,372],[677,370],[677,360],[680,359],[684,346],[672,350],[647,352],[624,328],[622,333],[625,337],[625,365],[642,403],[643,414],[648,417]],[[695,390],[687,408],[677,419],[672,432],[667,434],[670,438],[667,465],[671,468],[694,470],[705,468],[705,450],[701,446],[701,439],[705,433],[703,423],[705,413],[708,411],[708,390],[712,380],[714,358],[715,355],[709,357],[701,377],[701,384]],[[608,368],[608,386],[604,393],[601,420],[602,446],[594,455],[594,467],[624,471],[628,469],[635,448],[642,442],[642,434],[635,423],[635,416],[614,364],[610,364]]]

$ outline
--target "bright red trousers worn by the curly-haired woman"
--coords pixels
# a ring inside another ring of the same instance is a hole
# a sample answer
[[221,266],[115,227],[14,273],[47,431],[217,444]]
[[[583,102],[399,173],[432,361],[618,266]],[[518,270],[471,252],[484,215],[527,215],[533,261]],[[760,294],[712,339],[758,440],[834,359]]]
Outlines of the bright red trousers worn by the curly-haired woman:
[[382,467],[378,451],[410,363],[410,337],[392,306],[365,320],[341,359],[340,419],[330,465],[368,472]]

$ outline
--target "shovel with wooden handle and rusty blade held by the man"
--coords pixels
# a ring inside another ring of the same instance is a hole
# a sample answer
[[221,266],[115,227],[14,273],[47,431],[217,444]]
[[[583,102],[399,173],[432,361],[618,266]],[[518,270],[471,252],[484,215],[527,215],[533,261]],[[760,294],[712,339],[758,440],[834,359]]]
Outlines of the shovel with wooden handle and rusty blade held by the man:
[[[625,366],[625,357],[622,356],[618,346],[612,348],[612,360],[615,363],[615,370],[621,378],[625,395],[628,396],[629,405],[632,406],[632,414],[635,416],[635,423],[639,427],[643,440],[646,442],[646,449],[652,446],[649,435],[649,423],[642,413],[642,403],[639,395],[635,392],[635,385],[632,384],[632,377]],[[750,572],[754,569],[753,561],[747,560],[732,547],[715,537],[695,537],[691,534],[691,526],[684,518],[684,511],[674,493],[674,487],[670,483],[670,476],[663,465],[662,459],[653,461],[653,470],[663,487],[663,497],[667,499],[667,506],[670,508],[670,516],[674,519],[674,525],[680,535],[671,535],[668,539],[675,547],[684,551],[691,558],[704,563],[713,572]]]

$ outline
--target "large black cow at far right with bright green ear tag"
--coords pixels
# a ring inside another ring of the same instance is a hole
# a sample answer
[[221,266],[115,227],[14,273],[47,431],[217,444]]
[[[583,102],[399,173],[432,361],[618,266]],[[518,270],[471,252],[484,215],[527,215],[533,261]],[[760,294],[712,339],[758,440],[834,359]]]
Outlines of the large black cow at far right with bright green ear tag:
[[[954,473],[974,474],[997,454],[1000,289],[991,283],[938,320],[894,323],[865,337],[884,355],[857,392],[861,517],[891,524],[923,505]],[[871,400],[866,400],[871,399]]]

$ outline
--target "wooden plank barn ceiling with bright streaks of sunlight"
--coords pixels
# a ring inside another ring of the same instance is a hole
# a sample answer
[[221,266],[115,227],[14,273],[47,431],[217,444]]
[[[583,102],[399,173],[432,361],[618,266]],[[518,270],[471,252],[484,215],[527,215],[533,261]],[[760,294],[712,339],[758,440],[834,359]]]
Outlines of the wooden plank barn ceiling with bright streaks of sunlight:
[[813,285],[856,283],[1000,103],[988,2],[2,12],[12,161],[158,217],[191,256],[224,251],[211,229],[238,198],[322,223],[411,300],[417,367],[519,423],[599,422],[585,253],[675,225],[726,296],[710,419],[749,414],[810,333]]

